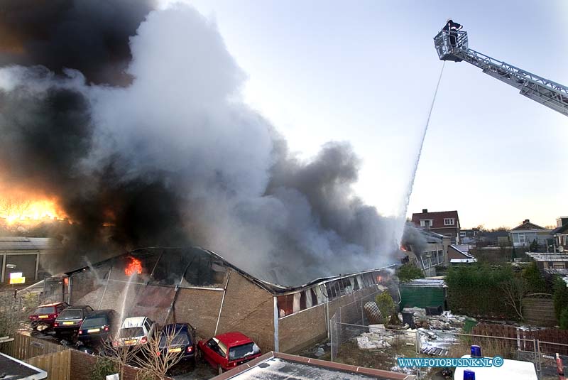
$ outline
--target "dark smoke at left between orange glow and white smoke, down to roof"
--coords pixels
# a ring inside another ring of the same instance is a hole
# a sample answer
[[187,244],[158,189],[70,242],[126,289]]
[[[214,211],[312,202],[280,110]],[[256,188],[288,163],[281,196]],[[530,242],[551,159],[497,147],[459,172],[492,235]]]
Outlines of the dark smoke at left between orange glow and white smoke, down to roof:
[[15,69],[11,79],[20,75],[25,84],[0,91],[1,179],[60,200],[74,222],[67,231],[74,264],[108,251],[109,243],[112,249],[188,244],[167,173],[126,178],[129,165],[120,152],[85,168],[95,126],[75,80],[42,66]]

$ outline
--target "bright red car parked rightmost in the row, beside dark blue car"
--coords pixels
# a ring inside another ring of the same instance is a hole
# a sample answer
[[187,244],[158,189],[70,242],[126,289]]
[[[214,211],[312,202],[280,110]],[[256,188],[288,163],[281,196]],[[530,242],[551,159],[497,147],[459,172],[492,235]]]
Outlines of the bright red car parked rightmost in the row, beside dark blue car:
[[207,341],[200,340],[197,348],[202,359],[217,368],[219,374],[262,354],[256,343],[240,332],[226,332]]

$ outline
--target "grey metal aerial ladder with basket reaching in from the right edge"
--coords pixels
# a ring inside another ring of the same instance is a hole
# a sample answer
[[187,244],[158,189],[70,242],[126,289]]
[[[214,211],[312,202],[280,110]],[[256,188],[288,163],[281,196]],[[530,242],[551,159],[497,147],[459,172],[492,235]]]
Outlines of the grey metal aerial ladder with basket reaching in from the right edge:
[[481,54],[468,47],[466,31],[440,31],[434,38],[440,60],[466,61],[520,90],[535,102],[568,116],[568,87]]

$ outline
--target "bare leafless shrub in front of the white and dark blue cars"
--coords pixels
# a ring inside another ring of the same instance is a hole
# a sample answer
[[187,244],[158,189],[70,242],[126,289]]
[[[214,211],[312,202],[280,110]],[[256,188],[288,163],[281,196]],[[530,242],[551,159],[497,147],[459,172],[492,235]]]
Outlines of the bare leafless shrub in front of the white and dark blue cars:
[[140,354],[135,358],[142,369],[150,372],[158,379],[163,379],[168,371],[182,359],[185,346],[180,344],[180,330],[163,330],[154,337],[149,337]]

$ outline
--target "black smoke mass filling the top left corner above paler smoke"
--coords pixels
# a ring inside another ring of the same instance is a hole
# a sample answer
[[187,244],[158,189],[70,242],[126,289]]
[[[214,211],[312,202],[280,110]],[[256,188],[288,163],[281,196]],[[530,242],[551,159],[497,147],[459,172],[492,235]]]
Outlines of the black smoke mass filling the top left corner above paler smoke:
[[79,70],[94,83],[124,85],[129,37],[151,0],[3,0],[0,65]]

